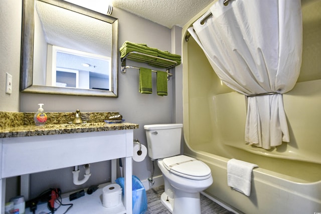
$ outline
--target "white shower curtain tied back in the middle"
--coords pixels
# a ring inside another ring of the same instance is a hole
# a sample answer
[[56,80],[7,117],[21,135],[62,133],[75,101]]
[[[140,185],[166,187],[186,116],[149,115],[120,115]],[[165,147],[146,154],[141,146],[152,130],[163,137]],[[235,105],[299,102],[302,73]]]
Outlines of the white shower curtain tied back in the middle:
[[245,141],[265,149],[289,142],[282,94],[301,66],[300,0],[219,0],[188,31],[227,86],[244,95],[277,92],[248,97]]

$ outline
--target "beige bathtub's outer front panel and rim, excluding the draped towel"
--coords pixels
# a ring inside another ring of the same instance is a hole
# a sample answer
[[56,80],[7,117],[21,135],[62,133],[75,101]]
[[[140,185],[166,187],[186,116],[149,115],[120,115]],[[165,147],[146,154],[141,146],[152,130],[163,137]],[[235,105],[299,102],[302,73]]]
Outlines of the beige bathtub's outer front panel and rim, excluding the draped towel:
[[321,210],[321,181],[308,182],[264,168],[253,170],[248,197],[227,186],[228,158],[204,151],[189,152],[212,170],[213,184],[205,193],[240,213],[317,213]]

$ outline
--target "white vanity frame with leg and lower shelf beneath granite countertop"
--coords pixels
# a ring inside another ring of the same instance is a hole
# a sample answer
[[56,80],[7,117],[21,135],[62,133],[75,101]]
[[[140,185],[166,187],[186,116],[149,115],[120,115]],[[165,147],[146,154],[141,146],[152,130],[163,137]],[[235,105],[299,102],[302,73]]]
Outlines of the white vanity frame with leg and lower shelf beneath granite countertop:
[[[93,198],[92,212],[70,211],[70,213],[132,213],[132,155],[133,155],[133,129],[116,129],[110,131],[93,131],[55,135],[37,135],[26,137],[5,137],[0,138],[0,152],[2,167],[0,185],[6,184],[6,178],[21,176],[20,194],[27,195],[26,200],[29,200],[30,195],[30,174],[67,168],[71,166],[82,165],[84,163],[97,163],[101,161],[111,161],[111,179],[116,180],[117,176],[117,159],[122,158],[124,166],[124,207],[119,207],[119,211],[109,211],[102,206],[100,199],[100,190],[95,194],[80,197],[75,201],[71,210],[78,210],[77,207],[82,207],[87,203],[88,198]],[[36,148],[36,149],[35,149]],[[62,149],[63,148],[63,149]],[[99,149],[97,149],[99,148]],[[59,161],[57,158],[48,158],[60,154]],[[19,154],[18,156],[16,154]],[[75,155],[79,154],[79,155]],[[72,175],[71,175],[72,176]],[[1,191],[2,195],[6,194],[6,189]],[[98,195],[96,195],[98,194]],[[96,196],[95,196],[96,195]],[[63,200],[63,203],[68,202]],[[76,202],[82,202],[76,205]],[[71,201],[73,203],[73,201]],[[5,197],[2,197],[2,204],[5,204]],[[0,205],[1,210],[5,207]],[[47,204],[45,204],[47,206]],[[87,207],[87,206],[86,206]],[[68,208],[64,206],[64,208]],[[91,208],[88,205],[88,208]],[[61,207],[61,209],[63,209]],[[81,210],[83,210],[81,208]],[[117,209],[118,210],[118,209]],[[37,211],[37,213],[39,213]],[[59,212],[55,212],[59,213]],[[69,213],[69,212],[67,212]]]

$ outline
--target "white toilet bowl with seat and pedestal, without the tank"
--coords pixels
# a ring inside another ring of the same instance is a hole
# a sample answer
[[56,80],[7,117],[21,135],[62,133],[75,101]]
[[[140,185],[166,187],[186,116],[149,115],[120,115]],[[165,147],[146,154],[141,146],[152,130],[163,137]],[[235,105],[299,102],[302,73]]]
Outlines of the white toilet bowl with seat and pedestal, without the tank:
[[[176,157],[190,158],[185,155]],[[175,165],[184,165],[184,167],[180,166],[180,169],[168,169],[166,164],[168,159],[157,160],[157,165],[161,169],[165,180],[165,192],[161,196],[162,203],[175,214],[201,214],[200,191],[205,190],[213,183],[210,168],[205,163],[194,158],[195,161]],[[202,176],[195,176],[194,169],[197,165],[205,169]],[[190,170],[188,167],[190,167]]]

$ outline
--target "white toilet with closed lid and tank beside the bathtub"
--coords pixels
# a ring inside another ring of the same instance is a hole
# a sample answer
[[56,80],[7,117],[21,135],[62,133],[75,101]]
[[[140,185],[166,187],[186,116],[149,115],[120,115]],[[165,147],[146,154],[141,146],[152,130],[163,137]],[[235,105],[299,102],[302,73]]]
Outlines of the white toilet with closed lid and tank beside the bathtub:
[[157,160],[165,181],[162,203],[174,214],[201,214],[200,191],[213,183],[204,162],[181,153],[183,124],[144,125],[148,156]]

